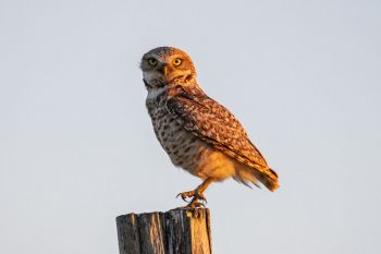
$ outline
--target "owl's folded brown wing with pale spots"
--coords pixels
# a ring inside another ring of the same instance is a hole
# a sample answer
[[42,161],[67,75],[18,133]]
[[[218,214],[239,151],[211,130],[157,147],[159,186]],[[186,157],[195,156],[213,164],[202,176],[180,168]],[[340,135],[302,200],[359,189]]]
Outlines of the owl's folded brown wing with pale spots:
[[[167,110],[189,132],[242,164],[268,174],[268,165],[249,141],[244,128],[222,105],[208,96],[177,94],[167,101]],[[272,171],[272,170],[271,170]],[[276,178],[276,174],[273,176]]]

